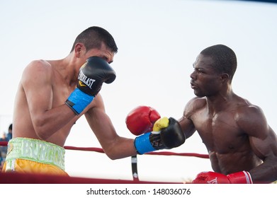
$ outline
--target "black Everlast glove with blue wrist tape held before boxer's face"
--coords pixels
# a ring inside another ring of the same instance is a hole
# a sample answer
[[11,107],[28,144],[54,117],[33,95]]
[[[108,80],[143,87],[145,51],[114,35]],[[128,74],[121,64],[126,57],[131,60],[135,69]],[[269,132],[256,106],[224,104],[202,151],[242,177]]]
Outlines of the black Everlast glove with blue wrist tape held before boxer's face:
[[102,84],[112,83],[115,77],[115,71],[108,62],[100,57],[89,57],[79,70],[77,88],[65,103],[79,115],[94,100]]

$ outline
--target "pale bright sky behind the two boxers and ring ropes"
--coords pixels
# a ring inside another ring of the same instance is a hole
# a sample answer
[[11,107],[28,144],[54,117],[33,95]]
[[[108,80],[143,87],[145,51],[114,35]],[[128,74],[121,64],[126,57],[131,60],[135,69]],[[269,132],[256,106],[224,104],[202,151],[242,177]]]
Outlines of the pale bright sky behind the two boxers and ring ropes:
[[[9,127],[24,67],[33,59],[62,59],[89,26],[108,30],[118,45],[111,64],[117,78],[101,90],[106,112],[120,136],[135,138],[125,117],[137,105],[179,119],[193,95],[189,75],[205,47],[224,44],[237,54],[233,90],[259,105],[276,123],[277,4],[245,1],[0,1],[0,132]],[[72,129],[67,146],[99,147],[86,120]],[[207,153],[194,134],[171,151]],[[140,180],[180,182],[211,170],[208,159],[139,156]],[[131,180],[130,158],[111,161],[102,153],[67,151],[69,175]]]

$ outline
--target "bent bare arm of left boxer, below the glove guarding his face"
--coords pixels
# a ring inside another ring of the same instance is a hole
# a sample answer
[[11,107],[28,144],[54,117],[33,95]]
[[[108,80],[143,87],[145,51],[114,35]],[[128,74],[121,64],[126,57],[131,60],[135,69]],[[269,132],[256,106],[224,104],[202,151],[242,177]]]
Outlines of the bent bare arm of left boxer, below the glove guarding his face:
[[23,71],[21,84],[33,127],[41,139],[47,139],[75,116],[67,105],[52,104],[52,69],[46,62],[31,62]]

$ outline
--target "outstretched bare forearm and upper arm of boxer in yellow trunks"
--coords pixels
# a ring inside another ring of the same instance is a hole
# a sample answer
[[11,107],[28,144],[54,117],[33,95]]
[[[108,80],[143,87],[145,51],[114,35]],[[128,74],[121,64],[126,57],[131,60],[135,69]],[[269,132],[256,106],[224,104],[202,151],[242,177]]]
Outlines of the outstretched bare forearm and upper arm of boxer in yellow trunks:
[[94,100],[95,106],[85,113],[86,120],[96,135],[106,155],[111,159],[135,156],[134,139],[118,136],[110,117],[105,112],[101,95]]

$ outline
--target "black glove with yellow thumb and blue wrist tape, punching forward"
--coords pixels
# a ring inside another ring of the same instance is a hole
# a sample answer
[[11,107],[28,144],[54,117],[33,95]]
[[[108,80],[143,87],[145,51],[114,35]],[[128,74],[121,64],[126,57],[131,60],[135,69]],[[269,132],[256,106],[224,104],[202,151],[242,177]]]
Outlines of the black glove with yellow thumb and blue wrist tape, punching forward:
[[[167,123],[164,124],[164,122]],[[169,119],[163,117],[154,123],[153,132],[137,136],[134,144],[137,153],[143,154],[159,149],[175,148],[181,146],[185,141],[186,136],[183,134],[179,122],[172,117]]]

